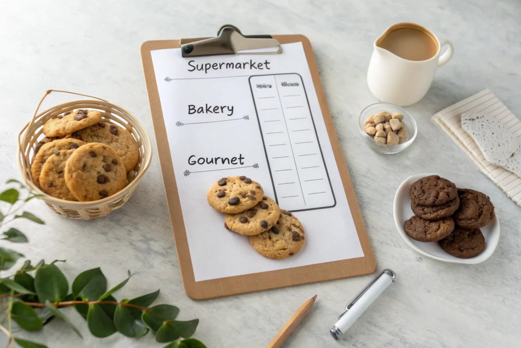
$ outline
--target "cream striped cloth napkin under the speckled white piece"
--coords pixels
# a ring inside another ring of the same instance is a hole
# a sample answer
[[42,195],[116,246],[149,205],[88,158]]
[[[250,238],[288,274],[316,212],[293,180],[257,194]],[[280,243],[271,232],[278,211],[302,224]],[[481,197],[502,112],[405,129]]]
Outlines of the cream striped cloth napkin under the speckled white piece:
[[462,148],[479,170],[521,207],[521,177],[485,159],[476,142],[461,127],[461,114],[468,112],[488,114],[510,128],[518,137],[521,137],[521,121],[488,89],[446,107],[432,116],[432,121]]

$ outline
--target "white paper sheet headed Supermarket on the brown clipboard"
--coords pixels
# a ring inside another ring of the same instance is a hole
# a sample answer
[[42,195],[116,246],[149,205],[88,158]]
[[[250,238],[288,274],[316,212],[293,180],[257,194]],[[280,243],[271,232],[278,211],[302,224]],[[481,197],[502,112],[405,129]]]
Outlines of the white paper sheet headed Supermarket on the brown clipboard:
[[[282,50],[194,58],[152,51],[195,281],[364,256],[304,49]],[[306,236],[298,254],[264,258],[224,228],[206,192],[235,175],[296,211]]]

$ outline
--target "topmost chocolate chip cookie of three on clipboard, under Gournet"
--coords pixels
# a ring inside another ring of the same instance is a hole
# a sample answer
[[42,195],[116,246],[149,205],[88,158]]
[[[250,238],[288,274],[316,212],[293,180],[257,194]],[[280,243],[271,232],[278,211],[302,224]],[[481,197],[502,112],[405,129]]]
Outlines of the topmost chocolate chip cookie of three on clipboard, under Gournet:
[[206,198],[212,208],[228,214],[237,214],[253,208],[264,197],[261,184],[245,176],[228,176],[210,187]]

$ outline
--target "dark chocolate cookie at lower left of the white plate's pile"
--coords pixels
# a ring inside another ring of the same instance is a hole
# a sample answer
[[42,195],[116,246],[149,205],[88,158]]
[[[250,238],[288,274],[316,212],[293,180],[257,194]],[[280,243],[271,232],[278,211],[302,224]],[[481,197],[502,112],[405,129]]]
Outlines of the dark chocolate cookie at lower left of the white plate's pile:
[[437,242],[454,230],[452,218],[429,221],[413,216],[405,221],[405,233],[418,242]]

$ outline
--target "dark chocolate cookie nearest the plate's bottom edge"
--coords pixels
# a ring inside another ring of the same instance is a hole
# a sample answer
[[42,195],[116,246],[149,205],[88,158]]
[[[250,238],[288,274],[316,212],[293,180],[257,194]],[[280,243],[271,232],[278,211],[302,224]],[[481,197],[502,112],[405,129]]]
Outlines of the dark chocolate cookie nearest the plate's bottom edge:
[[449,236],[438,243],[445,253],[461,259],[474,257],[485,249],[485,237],[479,229],[456,227]]

